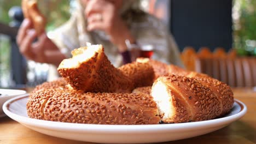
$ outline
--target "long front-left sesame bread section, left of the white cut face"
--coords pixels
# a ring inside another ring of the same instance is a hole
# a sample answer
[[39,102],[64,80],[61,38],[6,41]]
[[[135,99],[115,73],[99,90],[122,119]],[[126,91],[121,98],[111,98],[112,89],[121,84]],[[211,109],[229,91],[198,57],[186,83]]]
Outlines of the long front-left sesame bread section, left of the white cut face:
[[87,124],[158,124],[158,109],[146,94],[82,93],[41,89],[28,99],[31,118]]

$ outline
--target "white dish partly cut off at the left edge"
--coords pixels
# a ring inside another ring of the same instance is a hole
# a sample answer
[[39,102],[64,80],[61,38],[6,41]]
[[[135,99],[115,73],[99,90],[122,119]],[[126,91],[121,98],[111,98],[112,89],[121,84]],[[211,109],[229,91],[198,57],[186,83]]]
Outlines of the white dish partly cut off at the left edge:
[[18,89],[0,89],[0,94],[1,94],[0,95],[0,117],[6,116],[2,109],[5,101],[25,93],[26,91],[22,91]]

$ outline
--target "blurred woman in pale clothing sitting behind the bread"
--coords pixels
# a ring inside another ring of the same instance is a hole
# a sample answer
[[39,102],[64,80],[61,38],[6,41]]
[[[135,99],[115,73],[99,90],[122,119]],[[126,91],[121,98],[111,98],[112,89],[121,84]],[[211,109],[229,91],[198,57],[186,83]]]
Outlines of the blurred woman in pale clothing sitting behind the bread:
[[[17,43],[21,53],[40,63],[59,65],[71,57],[75,48],[102,44],[115,67],[130,61],[125,41],[139,46],[152,45],[153,59],[183,67],[179,51],[166,26],[138,8],[138,1],[80,0],[71,18],[48,36],[37,37],[31,21],[25,19],[19,29]],[[128,56],[128,57],[127,57]]]

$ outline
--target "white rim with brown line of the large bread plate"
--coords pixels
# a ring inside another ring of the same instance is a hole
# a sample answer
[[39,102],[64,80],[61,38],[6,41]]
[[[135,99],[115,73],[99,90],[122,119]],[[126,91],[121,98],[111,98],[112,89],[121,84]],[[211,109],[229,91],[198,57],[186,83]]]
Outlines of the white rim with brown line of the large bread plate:
[[[183,130],[193,130],[200,128],[205,129],[217,127],[220,125],[228,125],[231,122],[236,121],[237,119],[240,119],[242,116],[245,115],[247,112],[247,106],[243,104],[240,100],[234,99],[234,103],[237,103],[240,105],[241,110],[234,115],[228,116],[228,117],[222,117],[222,118],[216,118],[211,119],[207,121],[200,121],[200,122],[187,122],[187,123],[170,123],[170,124],[145,124],[145,125],[107,125],[107,124],[80,124],[80,123],[65,123],[65,122],[54,122],[54,121],[46,121],[41,119],[34,119],[29,118],[25,116],[17,115],[9,110],[9,106],[11,103],[14,103],[17,100],[24,99],[29,97],[29,94],[20,95],[18,97],[11,98],[3,104],[3,111],[4,113],[9,116],[10,118],[14,119],[15,121],[26,124],[26,125],[32,125],[33,127],[37,128],[51,128],[51,129],[57,129],[57,130],[66,130],[66,131],[90,131],[90,133],[99,133],[102,131],[104,133],[105,131],[108,131],[108,133],[154,133],[156,131],[183,131]],[[19,120],[17,120],[19,119]],[[223,121],[225,120],[225,121]],[[39,123],[39,124],[38,124]],[[150,130],[149,130],[150,129]]]

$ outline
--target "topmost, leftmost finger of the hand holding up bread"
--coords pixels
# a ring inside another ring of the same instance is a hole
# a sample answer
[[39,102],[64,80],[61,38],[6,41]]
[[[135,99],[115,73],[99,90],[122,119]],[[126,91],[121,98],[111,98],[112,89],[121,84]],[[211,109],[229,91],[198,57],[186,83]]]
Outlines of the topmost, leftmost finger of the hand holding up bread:
[[24,21],[22,22],[17,37],[16,37],[16,42],[18,45],[21,44],[21,41],[24,39],[24,37],[26,36],[27,30],[28,28],[30,28],[31,26],[31,21],[28,19],[24,19]]

